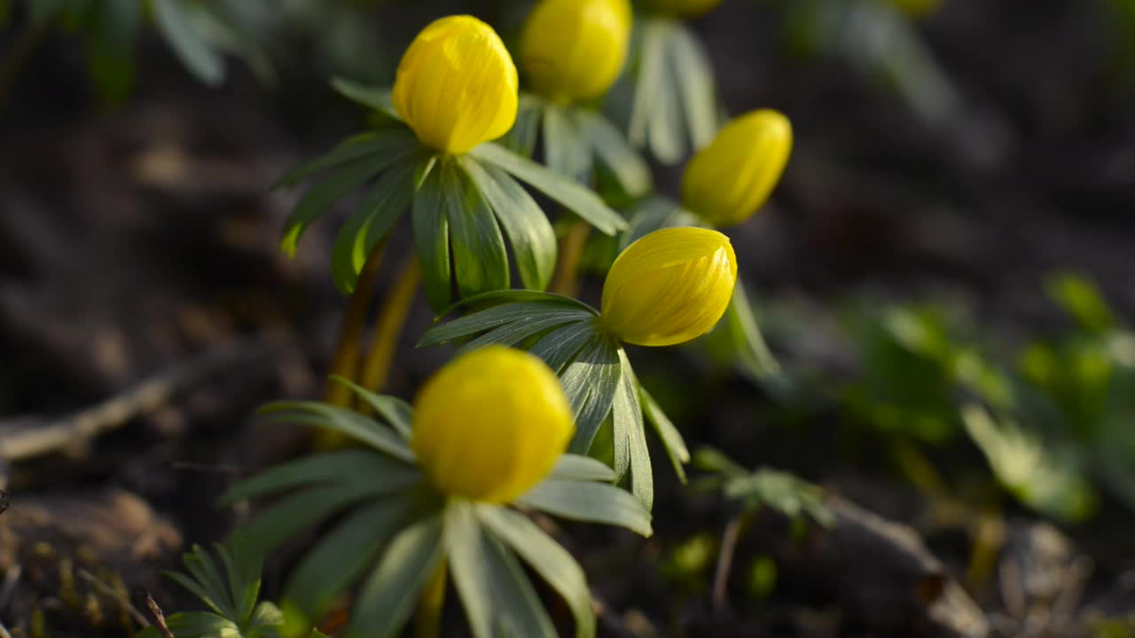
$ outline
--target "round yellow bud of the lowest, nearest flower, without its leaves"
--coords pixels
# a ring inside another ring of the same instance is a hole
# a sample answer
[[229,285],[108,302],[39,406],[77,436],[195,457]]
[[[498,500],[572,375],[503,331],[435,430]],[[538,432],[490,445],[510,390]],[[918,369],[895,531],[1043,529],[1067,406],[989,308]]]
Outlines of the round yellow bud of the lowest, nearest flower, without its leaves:
[[444,494],[507,503],[539,482],[575,426],[539,358],[493,345],[457,358],[414,401],[411,447]]

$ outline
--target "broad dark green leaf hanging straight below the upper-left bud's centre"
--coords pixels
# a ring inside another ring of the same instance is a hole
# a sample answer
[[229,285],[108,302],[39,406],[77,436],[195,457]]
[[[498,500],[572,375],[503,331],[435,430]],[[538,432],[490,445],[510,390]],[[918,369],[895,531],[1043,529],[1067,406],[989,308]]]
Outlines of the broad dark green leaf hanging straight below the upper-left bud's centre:
[[457,161],[442,167],[447,184],[453,272],[462,297],[506,289],[508,252],[493,209]]

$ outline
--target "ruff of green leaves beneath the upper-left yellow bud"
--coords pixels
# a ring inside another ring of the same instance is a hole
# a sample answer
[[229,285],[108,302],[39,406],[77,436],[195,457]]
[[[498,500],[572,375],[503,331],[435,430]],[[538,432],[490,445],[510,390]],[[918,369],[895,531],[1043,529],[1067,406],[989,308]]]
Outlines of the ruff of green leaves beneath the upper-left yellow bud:
[[556,261],[555,232],[520,182],[603,233],[625,226],[590,190],[499,144],[481,144],[461,157],[437,153],[422,148],[390,110],[388,92],[343,81],[336,86],[385,116],[377,118],[373,131],[343,142],[278,185],[293,186],[327,173],[288,218],[283,246],[294,253],[316,219],[373,181],[335,242],[331,269],[344,292],[354,289],[363,263],[407,209],[426,296],[436,311],[451,304],[454,279],[462,297],[510,286],[506,236],[524,286],[547,288]]

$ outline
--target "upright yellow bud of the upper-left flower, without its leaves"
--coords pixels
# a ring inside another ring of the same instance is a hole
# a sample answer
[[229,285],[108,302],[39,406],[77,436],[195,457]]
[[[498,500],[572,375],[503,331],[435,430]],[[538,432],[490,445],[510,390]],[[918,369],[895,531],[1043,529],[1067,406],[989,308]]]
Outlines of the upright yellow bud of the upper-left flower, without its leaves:
[[422,144],[461,154],[512,128],[518,89],[516,66],[493,27],[449,16],[422,30],[402,56],[394,109]]

